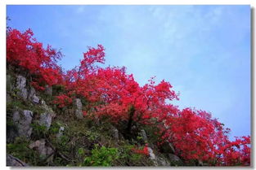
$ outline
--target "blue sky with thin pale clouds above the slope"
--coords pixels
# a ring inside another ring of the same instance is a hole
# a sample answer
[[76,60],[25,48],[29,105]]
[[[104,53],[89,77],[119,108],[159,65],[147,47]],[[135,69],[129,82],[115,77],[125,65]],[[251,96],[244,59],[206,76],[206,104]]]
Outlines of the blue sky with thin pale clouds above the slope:
[[169,81],[175,105],[211,112],[231,138],[250,134],[249,6],[7,6],[7,15],[62,49],[65,69],[102,44],[106,66],[125,66],[140,85]]

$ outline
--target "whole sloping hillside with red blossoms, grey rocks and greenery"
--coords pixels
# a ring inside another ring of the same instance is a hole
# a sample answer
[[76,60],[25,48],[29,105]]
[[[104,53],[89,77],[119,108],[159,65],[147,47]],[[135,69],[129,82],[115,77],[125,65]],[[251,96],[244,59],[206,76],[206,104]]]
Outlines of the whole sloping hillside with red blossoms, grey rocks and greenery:
[[209,112],[171,104],[167,81],[99,67],[104,51],[88,47],[64,71],[30,29],[7,30],[8,166],[250,165],[249,136],[231,142]]

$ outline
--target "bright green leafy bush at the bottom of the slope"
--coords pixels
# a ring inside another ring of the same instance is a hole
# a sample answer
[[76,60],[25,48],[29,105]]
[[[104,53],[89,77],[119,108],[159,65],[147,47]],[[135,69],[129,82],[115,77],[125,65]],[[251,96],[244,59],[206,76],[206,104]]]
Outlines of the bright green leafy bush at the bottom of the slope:
[[83,166],[111,166],[115,159],[118,159],[117,148],[106,148],[95,145],[95,149],[92,150],[92,155],[86,157],[83,160]]

